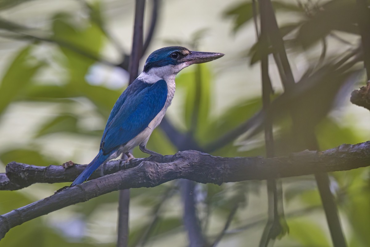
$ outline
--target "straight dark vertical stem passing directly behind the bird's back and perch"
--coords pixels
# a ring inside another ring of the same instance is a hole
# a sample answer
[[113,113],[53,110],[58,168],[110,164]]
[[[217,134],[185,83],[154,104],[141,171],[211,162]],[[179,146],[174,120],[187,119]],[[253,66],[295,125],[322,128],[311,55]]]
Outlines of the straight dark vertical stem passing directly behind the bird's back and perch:
[[[138,75],[139,61],[142,55],[143,43],[143,22],[144,22],[145,0],[136,0],[135,5],[135,23],[134,35],[132,39],[132,50],[129,62],[129,84],[131,84]],[[128,212],[129,212],[129,190],[120,190],[120,199],[118,206],[118,240],[117,247],[126,247],[128,243]]]

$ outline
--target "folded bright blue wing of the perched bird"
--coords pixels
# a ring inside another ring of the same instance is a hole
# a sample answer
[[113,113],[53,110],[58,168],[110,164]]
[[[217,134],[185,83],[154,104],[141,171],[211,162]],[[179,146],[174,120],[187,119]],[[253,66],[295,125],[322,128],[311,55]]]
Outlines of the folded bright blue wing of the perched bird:
[[100,144],[104,155],[126,144],[147,128],[166,102],[166,81],[134,83],[118,98],[112,109]]

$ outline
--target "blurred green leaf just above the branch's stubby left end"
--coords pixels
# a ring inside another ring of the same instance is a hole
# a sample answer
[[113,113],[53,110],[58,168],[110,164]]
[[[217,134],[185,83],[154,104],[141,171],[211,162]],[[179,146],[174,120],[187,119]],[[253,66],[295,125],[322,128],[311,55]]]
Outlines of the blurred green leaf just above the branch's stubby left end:
[[48,166],[50,164],[57,164],[55,160],[51,160],[38,151],[31,149],[13,149],[0,154],[0,160],[4,164],[11,161],[26,163],[35,166]]

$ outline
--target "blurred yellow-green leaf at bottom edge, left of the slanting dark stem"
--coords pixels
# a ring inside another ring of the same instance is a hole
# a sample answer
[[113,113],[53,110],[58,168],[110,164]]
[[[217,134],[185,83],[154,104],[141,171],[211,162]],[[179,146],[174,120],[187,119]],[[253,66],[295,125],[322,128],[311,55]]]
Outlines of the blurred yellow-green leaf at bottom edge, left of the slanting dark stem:
[[318,224],[303,219],[288,220],[289,236],[301,247],[330,247],[327,236]]

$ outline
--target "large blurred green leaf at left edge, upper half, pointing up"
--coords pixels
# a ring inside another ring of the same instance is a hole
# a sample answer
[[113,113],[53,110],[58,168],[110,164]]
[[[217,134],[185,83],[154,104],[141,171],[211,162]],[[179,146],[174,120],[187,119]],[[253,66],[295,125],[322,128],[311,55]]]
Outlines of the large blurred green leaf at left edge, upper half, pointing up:
[[0,114],[10,102],[24,90],[36,72],[43,66],[38,61],[30,61],[33,46],[23,48],[11,62],[0,84]]

